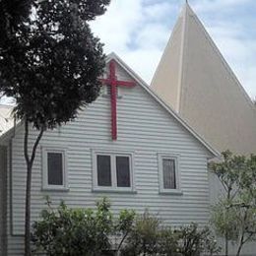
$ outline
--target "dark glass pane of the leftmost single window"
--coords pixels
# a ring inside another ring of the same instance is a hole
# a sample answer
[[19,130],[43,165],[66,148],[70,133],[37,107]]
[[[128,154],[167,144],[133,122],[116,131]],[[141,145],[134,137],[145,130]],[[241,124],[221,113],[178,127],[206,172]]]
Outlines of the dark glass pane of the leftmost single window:
[[62,157],[62,153],[47,153],[49,185],[63,185]]

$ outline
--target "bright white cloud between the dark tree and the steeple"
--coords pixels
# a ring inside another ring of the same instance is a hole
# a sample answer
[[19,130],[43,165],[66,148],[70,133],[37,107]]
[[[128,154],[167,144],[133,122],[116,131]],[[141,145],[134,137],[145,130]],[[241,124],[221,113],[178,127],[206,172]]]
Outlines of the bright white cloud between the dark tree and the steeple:
[[170,33],[161,20],[175,8],[165,2],[145,6],[142,0],[115,0],[92,29],[105,43],[106,53],[116,52],[150,83]]

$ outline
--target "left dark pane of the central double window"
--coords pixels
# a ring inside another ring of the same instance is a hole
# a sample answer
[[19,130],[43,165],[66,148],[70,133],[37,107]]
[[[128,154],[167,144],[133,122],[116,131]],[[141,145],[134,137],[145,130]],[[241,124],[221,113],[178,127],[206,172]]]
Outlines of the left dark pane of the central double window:
[[111,186],[110,156],[96,156],[97,185]]

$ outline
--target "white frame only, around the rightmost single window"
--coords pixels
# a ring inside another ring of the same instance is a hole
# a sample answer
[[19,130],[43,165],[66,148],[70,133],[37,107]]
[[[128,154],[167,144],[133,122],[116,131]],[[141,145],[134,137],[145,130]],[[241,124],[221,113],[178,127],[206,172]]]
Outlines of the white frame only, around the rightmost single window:
[[[175,161],[175,181],[176,188],[164,188],[163,187],[163,165],[162,160],[174,160]],[[179,167],[179,155],[176,154],[158,154],[159,160],[159,181],[160,181],[160,194],[175,194],[182,195],[181,187],[180,187],[180,167]]]

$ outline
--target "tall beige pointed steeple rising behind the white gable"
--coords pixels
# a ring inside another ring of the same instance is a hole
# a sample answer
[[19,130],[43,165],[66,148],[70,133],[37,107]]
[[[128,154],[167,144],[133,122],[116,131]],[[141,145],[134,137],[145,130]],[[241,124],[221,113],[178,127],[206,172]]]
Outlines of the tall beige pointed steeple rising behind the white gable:
[[219,151],[256,153],[256,108],[187,3],[152,88]]

